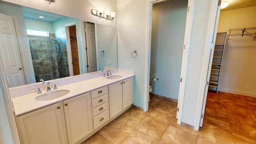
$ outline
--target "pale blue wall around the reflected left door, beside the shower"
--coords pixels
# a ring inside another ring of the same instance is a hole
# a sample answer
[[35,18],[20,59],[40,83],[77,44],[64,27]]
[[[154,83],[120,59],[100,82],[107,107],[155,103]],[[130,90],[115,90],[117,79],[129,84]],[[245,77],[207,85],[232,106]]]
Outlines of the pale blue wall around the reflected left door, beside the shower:
[[25,71],[28,84],[35,83],[34,68],[32,64],[32,58],[29,48],[28,35],[26,31],[24,16],[21,8],[15,6],[9,6],[0,3],[0,13],[15,16],[18,23],[18,32],[20,39],[21,55],[23,57],[23,69]]

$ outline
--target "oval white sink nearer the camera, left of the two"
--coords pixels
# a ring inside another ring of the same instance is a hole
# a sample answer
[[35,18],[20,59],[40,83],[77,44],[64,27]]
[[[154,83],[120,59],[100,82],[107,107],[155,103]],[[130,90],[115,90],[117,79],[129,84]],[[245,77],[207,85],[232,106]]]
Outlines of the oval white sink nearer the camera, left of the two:
[[45,94],[40,94],[40,96],[37,96],[35,100],[38,100],[38,101],[53,100],[55,98],[60,98],[62,96],[65,96],[69,92],[70,92],[69,90],[55,90],[55,91],[53,90]]

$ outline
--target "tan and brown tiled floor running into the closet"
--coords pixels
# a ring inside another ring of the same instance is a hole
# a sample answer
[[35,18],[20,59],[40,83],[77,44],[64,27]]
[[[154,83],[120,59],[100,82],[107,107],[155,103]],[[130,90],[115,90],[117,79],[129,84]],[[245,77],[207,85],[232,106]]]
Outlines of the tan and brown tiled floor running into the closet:
[[256,98],[208,92],[199,131],[177,124],[177,102],[150,98],[148,112],[130,108],[82,144],[256,144]]

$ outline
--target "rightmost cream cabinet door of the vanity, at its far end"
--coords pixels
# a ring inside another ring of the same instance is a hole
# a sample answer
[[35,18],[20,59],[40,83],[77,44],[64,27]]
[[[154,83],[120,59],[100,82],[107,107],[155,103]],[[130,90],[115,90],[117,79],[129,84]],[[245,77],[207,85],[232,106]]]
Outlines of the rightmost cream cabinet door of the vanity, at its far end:
[[133,78],[123,80],[123,109],[133,103]]

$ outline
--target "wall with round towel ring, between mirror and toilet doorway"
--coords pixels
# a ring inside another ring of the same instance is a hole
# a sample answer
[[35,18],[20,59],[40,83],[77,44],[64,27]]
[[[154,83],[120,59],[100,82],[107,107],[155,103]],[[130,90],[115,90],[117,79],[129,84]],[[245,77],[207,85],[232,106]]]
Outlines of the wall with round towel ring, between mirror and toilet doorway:
[[[118,68],[135,70],[133,100],[134,105],[141,108],[144,107],[149,74],[146,70],[148,8],[148,0],[117,0],[117,14],[120,15],[117,21]],[[131,56],[134,50],[137,51],[136,58]],[[127,61],[130,66],[126,66]]]

